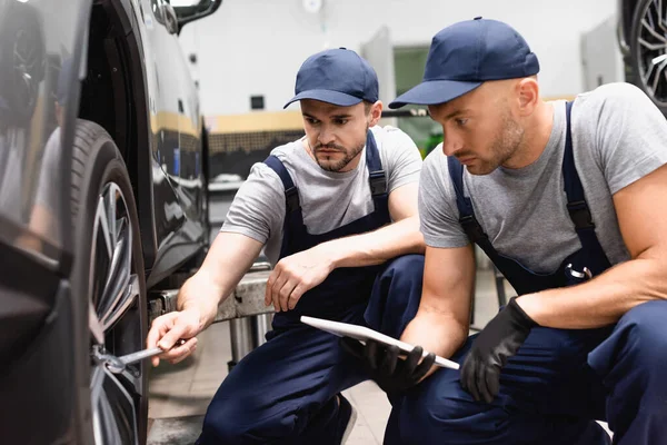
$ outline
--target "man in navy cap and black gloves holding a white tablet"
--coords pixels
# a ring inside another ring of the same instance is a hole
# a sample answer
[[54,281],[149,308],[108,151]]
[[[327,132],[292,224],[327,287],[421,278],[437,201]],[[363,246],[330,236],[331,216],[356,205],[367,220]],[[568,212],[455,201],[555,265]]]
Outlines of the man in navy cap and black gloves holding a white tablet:
[[[538,71],[512,28],[464,21],[389,106],[428,106],[445,136],[421,172],[424,293],[401,338],[462,366],[392,398],[387,444],[610,443],[595,419],[615,444],[667,443],[665,117],[627,83],[545,102]],[[468,337],[472,243],[519,297]]]

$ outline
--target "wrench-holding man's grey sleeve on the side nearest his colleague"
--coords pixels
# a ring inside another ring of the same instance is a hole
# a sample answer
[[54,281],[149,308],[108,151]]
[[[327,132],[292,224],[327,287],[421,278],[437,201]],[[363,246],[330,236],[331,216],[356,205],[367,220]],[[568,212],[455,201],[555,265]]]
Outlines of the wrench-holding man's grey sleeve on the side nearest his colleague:
[[382,141],[388,171],[387,191],[419,181],[421,171],[421,154],[415,141],[402,130],[385,127],[387,131]]

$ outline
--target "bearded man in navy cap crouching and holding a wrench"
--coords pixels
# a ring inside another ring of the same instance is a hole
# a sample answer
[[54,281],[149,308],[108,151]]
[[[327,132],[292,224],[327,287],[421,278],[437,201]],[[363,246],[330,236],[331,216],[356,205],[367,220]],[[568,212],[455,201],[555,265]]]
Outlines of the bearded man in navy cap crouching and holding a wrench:
[[[377,126],[374,69],[351,50],[319,52],[301,66],[287,105],[293,101],[306,136],[252,167],[201,269],[183,285],[180,312],[149,333],[148,346],[165,349],[191,338],[162,356],[182,359],[266,246],[276,265],[266,293],[273,329],[222,382],[199,444],[340,444],[355,421],[340,392],[369,376],[336,336],[300,316],[367,324],[398,338],[419,306],[421,157],[405,132]],[[397,373],[414,379],[430,368],[400,362]]]

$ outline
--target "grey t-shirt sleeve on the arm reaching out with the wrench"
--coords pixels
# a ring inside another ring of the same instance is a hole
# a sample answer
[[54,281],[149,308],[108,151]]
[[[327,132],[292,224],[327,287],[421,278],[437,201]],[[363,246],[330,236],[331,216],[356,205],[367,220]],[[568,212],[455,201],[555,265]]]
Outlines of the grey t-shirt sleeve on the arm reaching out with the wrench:
[[220,231],[246,235],[266,244],[282,229],[283,216],[282,182],[266,164],[258,162],[235,196]]

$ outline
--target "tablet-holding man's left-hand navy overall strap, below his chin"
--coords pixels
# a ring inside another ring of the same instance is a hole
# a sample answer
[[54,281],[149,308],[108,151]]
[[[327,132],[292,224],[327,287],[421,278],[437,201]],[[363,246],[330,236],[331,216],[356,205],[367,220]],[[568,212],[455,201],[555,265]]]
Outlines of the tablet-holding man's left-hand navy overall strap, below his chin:
[[456,207],[459,211],[459,224],[466,231],[470,243],[477,244],[488,255],[491,260],[498,258],[498,253],[489,241],[489,237],[484,231],[479,221],[475,217],[472,202],[470,198],[464,195],[464,166],[454,156],[447,157],[447,168],[449,177],[456,192]]

